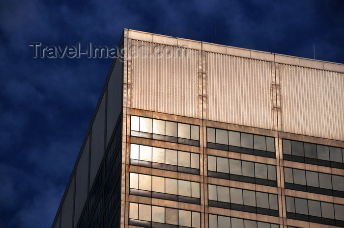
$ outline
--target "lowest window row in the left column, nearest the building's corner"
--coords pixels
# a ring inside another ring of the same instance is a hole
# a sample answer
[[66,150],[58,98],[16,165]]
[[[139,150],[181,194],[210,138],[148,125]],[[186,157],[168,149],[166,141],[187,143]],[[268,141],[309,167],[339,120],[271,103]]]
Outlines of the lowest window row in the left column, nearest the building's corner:
[[[158,224],[155,224],[158,223]],[[201,228],[201,213],[174,208],[152,206],[141,203],[129,203],[129,224],[143,227],[170,227],[172,226]]]

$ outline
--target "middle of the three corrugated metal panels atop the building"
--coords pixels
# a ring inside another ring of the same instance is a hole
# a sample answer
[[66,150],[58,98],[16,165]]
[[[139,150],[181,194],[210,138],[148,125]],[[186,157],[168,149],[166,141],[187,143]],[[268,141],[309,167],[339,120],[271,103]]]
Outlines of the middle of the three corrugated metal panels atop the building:
[[207,52],[208,119],[273,129],[271,63]]

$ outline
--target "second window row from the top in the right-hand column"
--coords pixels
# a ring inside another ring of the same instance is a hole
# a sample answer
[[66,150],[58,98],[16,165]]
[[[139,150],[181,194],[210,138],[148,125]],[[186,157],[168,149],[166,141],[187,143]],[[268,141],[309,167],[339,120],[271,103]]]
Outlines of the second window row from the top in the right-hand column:
[[343,176],[292,169],[287,167],[284,168],[284,176],[286,188],[344,197]]

